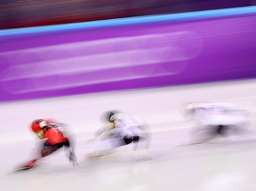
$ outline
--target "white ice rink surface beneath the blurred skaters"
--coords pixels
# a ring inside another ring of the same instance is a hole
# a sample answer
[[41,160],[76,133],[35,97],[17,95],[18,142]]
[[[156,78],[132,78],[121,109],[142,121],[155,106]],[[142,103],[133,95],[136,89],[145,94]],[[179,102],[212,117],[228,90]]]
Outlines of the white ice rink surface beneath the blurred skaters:
[[[195,124],[179,113],[184,101],[235,103],[248,111],[248,135],[212,143],[195,141]],[[212,82],[141,90],[99,92],[0,104],[1,190],[256,190],[256,80]],[[45,158],[42,166],[10,173],[29,159],[35,138],[28,124],[36,118],[53,117],[70,124],[81,160],[93,149],[88,137],[100,127],[100,114],[121,109],[141,116],[152,127],[152,160],[131,162],[130,145],[118,154],[77,167],[63,152]]]

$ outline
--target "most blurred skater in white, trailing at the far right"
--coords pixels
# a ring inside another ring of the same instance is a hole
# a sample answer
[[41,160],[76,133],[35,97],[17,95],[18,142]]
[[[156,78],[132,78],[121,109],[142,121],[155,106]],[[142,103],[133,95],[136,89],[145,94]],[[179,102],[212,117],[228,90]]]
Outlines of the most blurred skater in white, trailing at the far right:
[[184,118],[201,126],[197,129],[197,135],[201,135],[197,138],[201,142],[219,136],[223,138],[247,133],[244,125],[248,122],[248,116],[232,103],[187,102],[182,105],[181,111]]

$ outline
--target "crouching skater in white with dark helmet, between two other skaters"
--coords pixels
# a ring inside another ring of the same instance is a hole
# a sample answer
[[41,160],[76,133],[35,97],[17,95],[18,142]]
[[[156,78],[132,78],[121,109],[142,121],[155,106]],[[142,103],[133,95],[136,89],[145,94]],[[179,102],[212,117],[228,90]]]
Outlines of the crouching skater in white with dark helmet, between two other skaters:
[[106,111],[101,121],[104,125],[90,139],[97,140],[95,156],[104,156],[117,147],[132,143],[133,153],[143,150],[144,155],[140,157],[150,159],[145,152],[150,147],[151,132],[145,120],[125,115],[121,111]]

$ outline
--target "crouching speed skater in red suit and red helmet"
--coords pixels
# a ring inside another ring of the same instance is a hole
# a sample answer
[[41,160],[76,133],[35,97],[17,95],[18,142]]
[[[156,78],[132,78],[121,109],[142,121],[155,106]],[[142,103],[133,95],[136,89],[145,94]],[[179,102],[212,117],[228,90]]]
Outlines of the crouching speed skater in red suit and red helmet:
[[53,152],[59,150],[61,147],[65,148],[68,159],[73,165],[76,165],[76,156],[74,155],[74,147],[70,143],[70,139],[63,134],[61,126],[51,121],[38,119],[34,120],[29,128],[34,135],[39,139],[45,139],[44,143],[37,149],[37,155],[33,160],[30,160],[23,166],[23,169],[31,169],[35,166],[40,158],[48,156]]

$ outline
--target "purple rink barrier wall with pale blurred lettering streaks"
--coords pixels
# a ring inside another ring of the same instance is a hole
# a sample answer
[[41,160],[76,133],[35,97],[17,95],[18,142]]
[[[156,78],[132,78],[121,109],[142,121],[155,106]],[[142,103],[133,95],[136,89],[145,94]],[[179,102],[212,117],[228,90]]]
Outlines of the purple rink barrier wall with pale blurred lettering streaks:
[[256,77],[256,17],[1,39],[0,101]]

